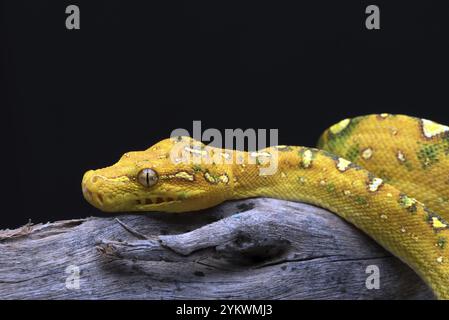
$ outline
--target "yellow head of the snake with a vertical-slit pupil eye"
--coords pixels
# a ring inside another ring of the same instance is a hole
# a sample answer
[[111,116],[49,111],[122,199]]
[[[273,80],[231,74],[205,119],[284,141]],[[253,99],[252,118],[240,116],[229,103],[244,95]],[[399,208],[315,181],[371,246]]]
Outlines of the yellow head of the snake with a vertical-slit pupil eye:
[[83,195],[106,212],[215,206],[232,193],[231,166],[210,161],[214,152],[222,151],[188,137],[165,139],[145,151],[125,153],[110,167],[87,171]]

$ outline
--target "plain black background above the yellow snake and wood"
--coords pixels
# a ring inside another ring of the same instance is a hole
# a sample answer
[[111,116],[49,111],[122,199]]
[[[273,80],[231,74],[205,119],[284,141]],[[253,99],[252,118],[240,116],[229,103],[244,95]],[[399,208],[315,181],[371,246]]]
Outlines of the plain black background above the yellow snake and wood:
[[[4,2],[0,228],[103,215],[82,174],[192,120],[309,146],[367,113],[448,124],[449,10],[392,2]],[[369,4],[381,30],[365,28]]]

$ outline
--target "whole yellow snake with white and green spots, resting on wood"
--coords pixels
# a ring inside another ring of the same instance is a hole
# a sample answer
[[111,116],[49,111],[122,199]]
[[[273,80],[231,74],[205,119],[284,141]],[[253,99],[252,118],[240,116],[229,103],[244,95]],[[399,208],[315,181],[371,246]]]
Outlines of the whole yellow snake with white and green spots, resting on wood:
[[[270,163],[276,170],[262,174]],[[449,127],[431,120],[348,118],[326,129],[316,148],[251,152],[170,137],[87,171],[81,185],[105,212],[198,211],[254,197],[319,206],[405,262],[436,298],[449,299]]]

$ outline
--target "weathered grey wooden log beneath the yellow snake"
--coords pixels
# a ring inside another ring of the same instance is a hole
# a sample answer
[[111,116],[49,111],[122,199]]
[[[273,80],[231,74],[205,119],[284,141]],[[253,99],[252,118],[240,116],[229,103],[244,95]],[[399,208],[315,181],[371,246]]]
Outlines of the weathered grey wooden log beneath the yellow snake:
[[[370,265],[380,270],[380,289],[366,288]],[[66,287],[66,271],[76,270],[69,266],[80,270],[79,289],[73,282]],[[336,215],[301,203],[249,199],[197,213],[91,217],[0,231],[0,298],[433,295],[412,270]]]

